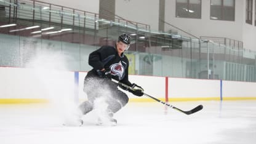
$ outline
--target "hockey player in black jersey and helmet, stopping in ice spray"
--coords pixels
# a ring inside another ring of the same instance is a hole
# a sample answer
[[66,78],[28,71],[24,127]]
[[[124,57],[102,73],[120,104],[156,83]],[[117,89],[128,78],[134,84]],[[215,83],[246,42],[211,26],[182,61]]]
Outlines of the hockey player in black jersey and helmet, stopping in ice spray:
[[[89,55],[89,65],[93,67],[84,79],[84,92],[87,94],[87,101],[79,105],[82,114],[87,114],[95,108],[97,98],[104,97],[107,103],[106,116],[109,121],[116,124],[116,119],[113,119],[113,114],[119,111],[126,105],[129,98],[127,95],[118,89],[118,84],[111,81],[115,79],[127,86],[133,87],[134,90],[129,90],[138,97],[143,95],[142,87],[137,84],[132,84],[128,78],[129,61],[124,55],[124,52],[129,49],[130,36],[126,33],[118,37],[115,47],[102,46]],[[98,123],[100,123],[98,119]]]

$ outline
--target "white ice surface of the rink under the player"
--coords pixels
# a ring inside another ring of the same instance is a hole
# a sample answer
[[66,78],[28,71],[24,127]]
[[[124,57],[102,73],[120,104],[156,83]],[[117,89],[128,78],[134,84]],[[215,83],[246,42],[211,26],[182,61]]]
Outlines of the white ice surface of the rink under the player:
[[256,142],[256,101],[128,103],[114,115],[117,126],[97,126],[95,113],[81,127],[62,126],[52,105],[0,105],[1,144],[19,143],[241,143]]

